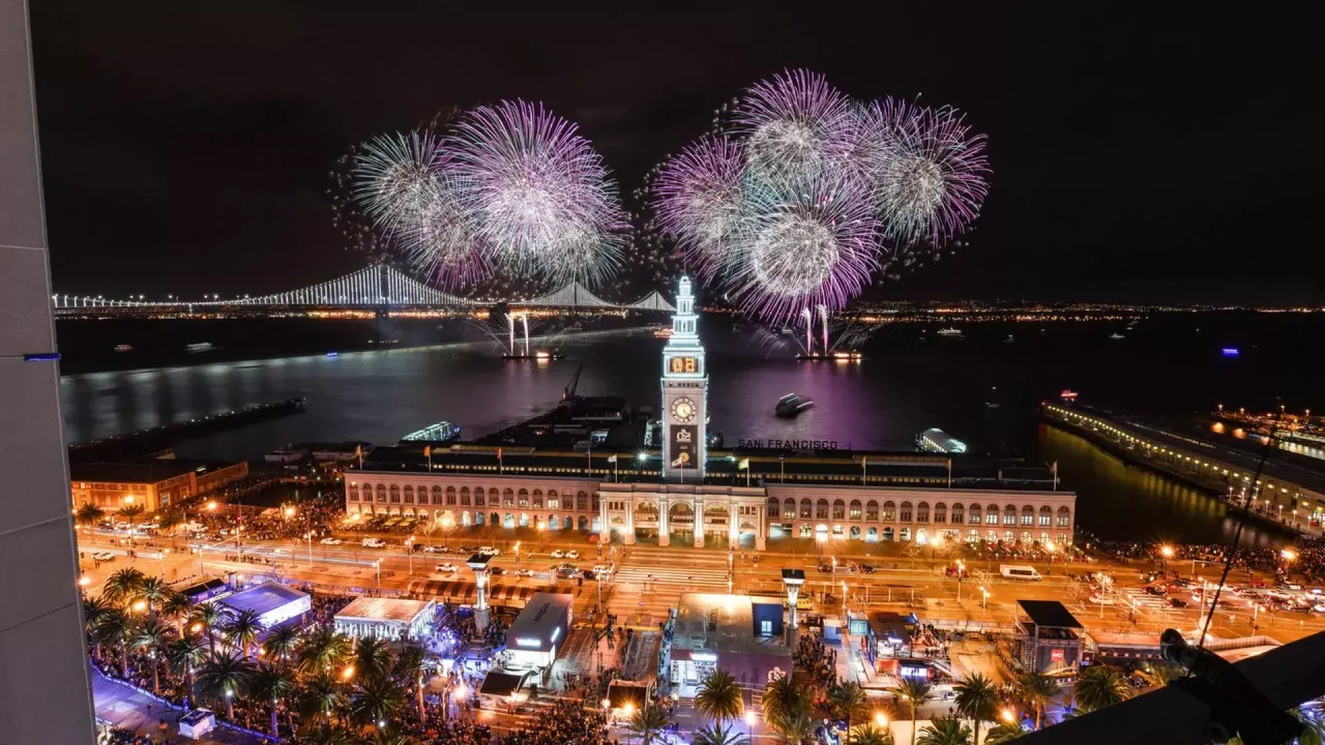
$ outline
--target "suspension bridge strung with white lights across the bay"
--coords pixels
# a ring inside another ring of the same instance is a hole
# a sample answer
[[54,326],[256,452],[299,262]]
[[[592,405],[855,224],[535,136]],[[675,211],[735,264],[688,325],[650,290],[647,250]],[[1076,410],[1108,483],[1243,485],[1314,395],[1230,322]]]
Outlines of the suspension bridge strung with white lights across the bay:
[[[590,292],[579,282],[571,282],[556,292],[530,298],[469,298],[444,293],[436,288],[400,272],[386,264],[372,264],[326,282],[295,290],[257,296],[204,300],[150,300],[106,298],[90,296],[54,294],[52,306],[57,314],[78,314],[87,309],[113,309],[134,313],[166,310],[212,310],[244,308],[338,308],[338,309],[392,309],[392,308],[481,308],[497,302],[519,308],[563,308],[563,309],[603,309],[603,310],[660,310],[672,313],[676,308],[657,290],[635,302],[612,302]],[[123,310],[121,310],[123,309]]]

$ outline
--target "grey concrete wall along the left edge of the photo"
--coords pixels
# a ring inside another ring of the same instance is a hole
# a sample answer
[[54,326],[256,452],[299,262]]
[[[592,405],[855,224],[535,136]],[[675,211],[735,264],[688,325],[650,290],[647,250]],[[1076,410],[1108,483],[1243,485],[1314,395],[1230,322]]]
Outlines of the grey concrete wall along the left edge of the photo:
[[0,745],[93,741],[28,7],[0,0]]

